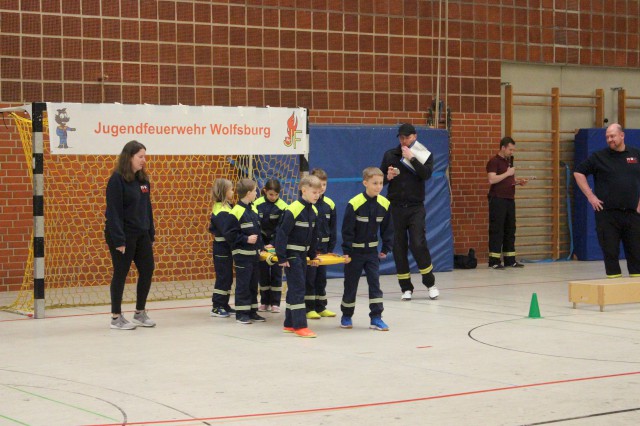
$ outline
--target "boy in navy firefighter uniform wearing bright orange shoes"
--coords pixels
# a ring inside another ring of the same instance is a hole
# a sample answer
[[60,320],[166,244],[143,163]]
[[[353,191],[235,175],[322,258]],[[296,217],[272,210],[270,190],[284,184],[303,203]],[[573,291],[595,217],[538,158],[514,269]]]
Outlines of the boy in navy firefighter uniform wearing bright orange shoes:
[[316,333],[307,328],[304,289],[307,256],[312,259],[311,266],[318,266],[318,213],[313,204],[320,198],[321,188],[322,184],[317,177],[302,178],[302,195],[284,211],[276,230],[276,255],[280,266],[285,267],[288,286],[283,331],[300,337],[316,337]]

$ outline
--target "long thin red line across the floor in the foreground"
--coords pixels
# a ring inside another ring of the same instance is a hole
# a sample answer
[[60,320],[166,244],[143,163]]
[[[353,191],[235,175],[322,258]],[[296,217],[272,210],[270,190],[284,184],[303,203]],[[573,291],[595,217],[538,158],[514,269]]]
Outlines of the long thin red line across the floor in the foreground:
[[[254,417],[267,417],[267,416],[282,416],[282,415],[292,415],[292,414],[303,414],[303,413],[319,413],[324,411],[338,411],[338,410],[350,410],[356,408],[367,408],[367,407],[377,407],[382,405],[395,405],[395,404],[406,404],[409,402],[419,402],[419,401],[429,401],[434,399],[444,399],[444,398],[454,398],[459,396],[468,396],[468,395],[479,395],[484,393],[491,392],[501,392],[506,390],[516,390],[516,389],[526,389],[540,386],[549,386],[549,385],[557,385],[563,383],[573,383],[573,382],[583,382],[589,380],[600,380],[600,379],[610,379],[614,377],[624,377],[624,376],[633,376],[640,374],[640,371],[632,371],[628,373],[618,373],[618,374],[607,374],[604,376],[591,376],[591,377],[579,377],[575,379],[565,379],[565,380],[554,380],[550,382],[541,382],[541,383],[529,383],[526,385],[516,385],[516,386],[505,386],[501,388],[491,388],[491,389],[481,389],[476,391],[469,392],[459,392],[459,393],[450,393],[445,395],[434,395],[434,396],[425,396],[421,398],[411,398],[411,399],[400,399],[396,401],[381,401],[381,402],[372,402],[368,404],[355,404],[355,405],[342,405],[336,407],[322,407],[322,408],[309,408],[305,410],[290,410],[290,411],[274,411],[267,413],[254,413],[254,414],[237,414],[231,416],[217,416],[217,417],[201,417],[201,418],[193,418],[193,419],[182,419],[182,420],[156,420],[156,421],[145,421],[145,422],[127,422],[127,425],[160,425],[160,424],[177,424],[177,423],[186,423],[186,422],[204,422],[204,421],[214,421],[214,420],[239,420],[239,419],[249,419]],[[121,426],[123,423],[105,423],[105,424],[93,424],[93,425],[85,425],[85,426]]]

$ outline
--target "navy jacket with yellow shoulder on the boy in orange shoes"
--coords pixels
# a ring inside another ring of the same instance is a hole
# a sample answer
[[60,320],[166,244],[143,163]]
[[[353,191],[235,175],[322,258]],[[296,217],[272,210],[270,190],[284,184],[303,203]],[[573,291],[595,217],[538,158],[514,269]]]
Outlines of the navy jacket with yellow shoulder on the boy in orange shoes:
[[316,257],[317,216],[315,206],[302,198],[289,204],[276,229],[275,248],[280,262],[294,254],[306,255],[311,259]]

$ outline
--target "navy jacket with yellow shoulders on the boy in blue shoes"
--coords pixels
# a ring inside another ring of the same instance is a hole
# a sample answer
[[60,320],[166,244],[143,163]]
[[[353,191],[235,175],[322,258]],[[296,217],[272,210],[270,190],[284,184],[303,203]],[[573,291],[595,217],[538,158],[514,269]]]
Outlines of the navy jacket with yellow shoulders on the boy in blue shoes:
[[389,200],[382,195],[369,197],[366,192],[356,195],[347,204],[342,221],[342,252],[378,251],[378,229],[382,236],[380,252],[389,253],[393,244],[393,225],[389,213]]

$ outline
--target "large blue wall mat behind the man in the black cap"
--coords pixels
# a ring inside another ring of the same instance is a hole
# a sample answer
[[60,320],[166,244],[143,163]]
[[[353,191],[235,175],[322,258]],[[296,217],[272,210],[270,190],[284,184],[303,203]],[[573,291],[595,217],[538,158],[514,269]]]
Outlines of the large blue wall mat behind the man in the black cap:
[[[427,242],[435,272],[453,269],[453,233],[451,231],[451,197],[445,174],[449,165],[449,136],[446,130],[416,127],[418,141],[434,156],[434,171],[426,183]],[[380,167],[385,151],[398,146],[398,126],[309,126],[309,167],[322,168],[329,175],[326,195],[336,203],[338,243],[342,253],[342,218],[349,200],[364,191],[362,170]],[[383,171],[384,172],[384,171]],[[407,171],[407,173],[409,173]],[[382,191],[386,196],[387,187]],[[392,254],[393,255],[393,254]],[[418,272],[409,255],[412,272]],[[395,274],[393,257],[380,264],[383,275]],[[329,266],[329,278],[343,277],[343,265]]]

